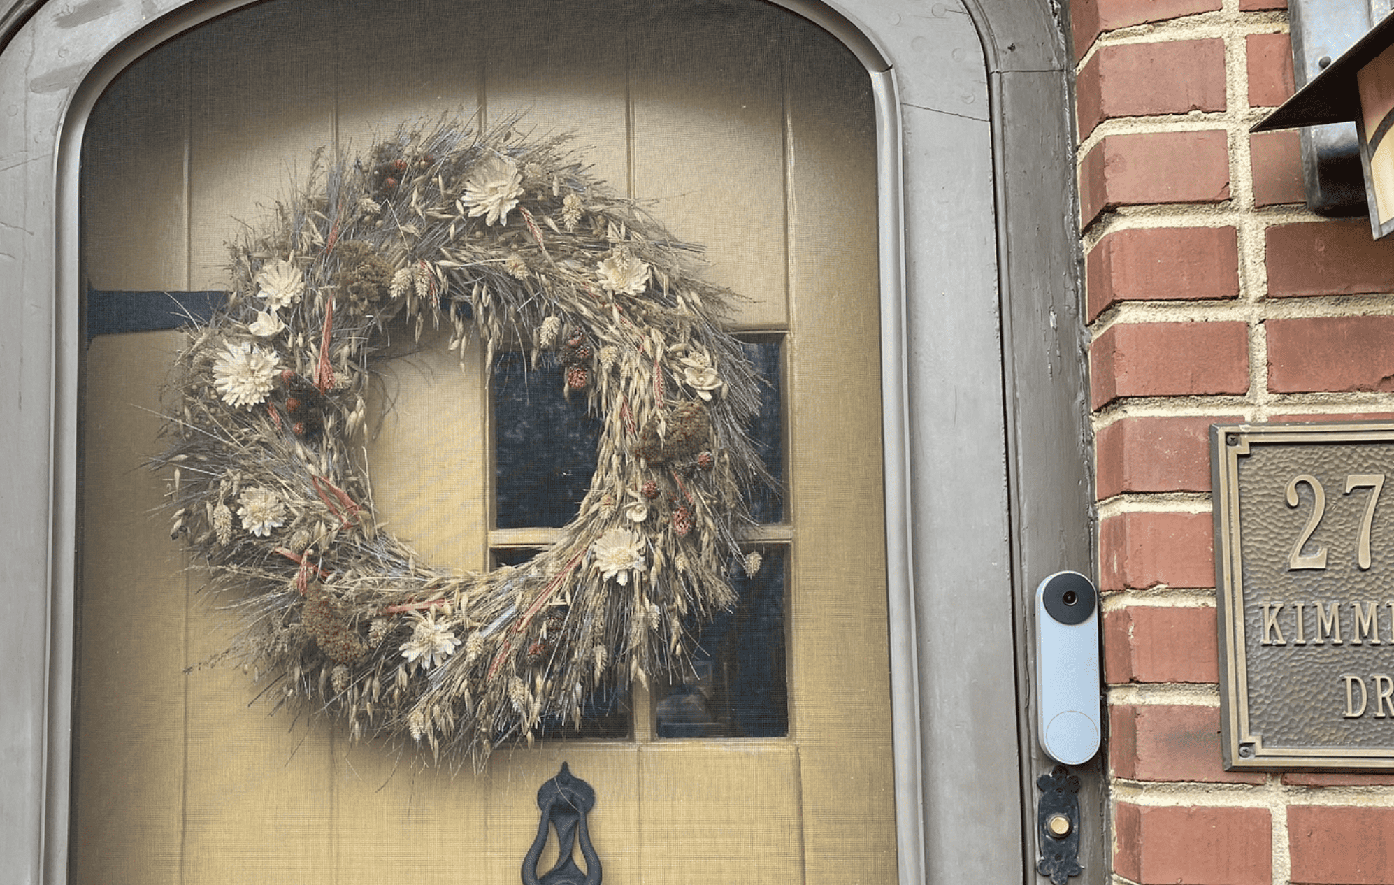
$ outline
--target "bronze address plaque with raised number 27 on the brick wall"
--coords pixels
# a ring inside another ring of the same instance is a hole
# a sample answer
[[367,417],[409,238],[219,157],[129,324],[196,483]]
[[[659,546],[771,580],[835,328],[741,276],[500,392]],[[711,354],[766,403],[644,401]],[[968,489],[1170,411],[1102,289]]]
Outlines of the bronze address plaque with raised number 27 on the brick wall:
[[1210,433],[1225,768],[1394,768],[1394,424]]

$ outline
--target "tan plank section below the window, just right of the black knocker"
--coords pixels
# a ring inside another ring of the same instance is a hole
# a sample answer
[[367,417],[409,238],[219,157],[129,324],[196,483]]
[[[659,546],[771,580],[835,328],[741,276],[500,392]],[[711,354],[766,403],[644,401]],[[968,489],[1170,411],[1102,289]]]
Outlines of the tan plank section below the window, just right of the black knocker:
[[796,747],[672,741],[638,758],[645,884],[803,881]]

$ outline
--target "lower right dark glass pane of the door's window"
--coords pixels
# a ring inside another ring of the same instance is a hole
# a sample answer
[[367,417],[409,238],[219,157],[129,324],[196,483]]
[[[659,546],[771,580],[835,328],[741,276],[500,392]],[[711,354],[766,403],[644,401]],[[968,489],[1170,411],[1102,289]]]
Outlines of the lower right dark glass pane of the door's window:
[[754,577],[732,581],[740,601],[701,634],[693,672],[661,688],[659,737],[783,737],[789,733],[785,679],[783,548],[761,551]]

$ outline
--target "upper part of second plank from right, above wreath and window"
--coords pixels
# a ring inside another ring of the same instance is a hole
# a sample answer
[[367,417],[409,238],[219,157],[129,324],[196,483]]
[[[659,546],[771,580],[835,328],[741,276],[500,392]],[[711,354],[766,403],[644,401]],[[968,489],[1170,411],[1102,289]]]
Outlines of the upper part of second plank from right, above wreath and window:
[[783,328],[782,10],[744,3],[630,10],[634,197],[707,247],[708,279],[750,298],[736,328]]

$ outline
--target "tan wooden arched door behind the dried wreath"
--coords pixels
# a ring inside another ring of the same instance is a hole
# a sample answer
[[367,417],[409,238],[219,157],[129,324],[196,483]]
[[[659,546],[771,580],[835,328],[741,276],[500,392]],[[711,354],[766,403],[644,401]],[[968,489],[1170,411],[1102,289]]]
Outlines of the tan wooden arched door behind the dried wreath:
[[[178,333],[102,336],[82,394],[72,881],[516,882],[563,760],[597,790],[606,882],[894,881],[873,111],[825,33],[726,1],[238,11],[145,57],[95,113],[88,282],[220,288],[234,219],[315,148],[460,107],[576,131],[749,295],[733,328],[781,343],[788,489],[753,538],[786,567],[788,734],[664,739],[637,691],[625,737],[499,751],[474,774],[270,715],[247,675],[199,666],[223,622],[141,468]],[[481,364],[461,375],[428,350],[385,371],[369,452],[383,518],[460,569],[546,539],[495,528]]]

